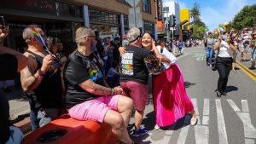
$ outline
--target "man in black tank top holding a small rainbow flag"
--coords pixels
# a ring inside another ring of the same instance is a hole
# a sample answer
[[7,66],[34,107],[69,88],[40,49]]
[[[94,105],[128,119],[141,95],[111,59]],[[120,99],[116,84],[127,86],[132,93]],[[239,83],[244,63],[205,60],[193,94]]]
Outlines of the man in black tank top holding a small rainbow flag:
[[55,56],[44,50],[44,32],[39,26],[27,26],[22,37],[28,46],[24,53],[28,65],[20,72],[20,82],[31,107],[32,130],[36,130],[61,115],[61,67]]

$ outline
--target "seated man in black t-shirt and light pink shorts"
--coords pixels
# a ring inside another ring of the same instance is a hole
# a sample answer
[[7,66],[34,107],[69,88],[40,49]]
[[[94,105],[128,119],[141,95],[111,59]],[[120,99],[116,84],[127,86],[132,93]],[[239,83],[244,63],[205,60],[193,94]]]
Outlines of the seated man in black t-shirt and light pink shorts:
[[71,118],[107,123],[113,135],[125,144],[134,143],[127,131],[133,102],[121,95],[120,87],[108,88],[101,72],[101,64],[93,49],[96,35],[86,27],[79,27],[75,36],[78,49],[68,56],[64,68],[67,84],[66,108]]

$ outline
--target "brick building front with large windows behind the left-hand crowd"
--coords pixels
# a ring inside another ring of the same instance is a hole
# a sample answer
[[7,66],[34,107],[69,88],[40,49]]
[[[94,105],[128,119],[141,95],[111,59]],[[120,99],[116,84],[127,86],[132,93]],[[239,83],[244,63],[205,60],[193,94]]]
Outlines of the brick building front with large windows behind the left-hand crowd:
[[[67,51],[75,47],[74,34],[79,26],[92,27],[98,37],[121,37],[129,29],[133,7],[128,0],[0,0],[0,15],[9,22],[5,45],[24,51],[21,35],[27,25],[41,26],[47,36],[60,37]],[[143,31],[156,32],[156,9],[152,0],[139,0]]]

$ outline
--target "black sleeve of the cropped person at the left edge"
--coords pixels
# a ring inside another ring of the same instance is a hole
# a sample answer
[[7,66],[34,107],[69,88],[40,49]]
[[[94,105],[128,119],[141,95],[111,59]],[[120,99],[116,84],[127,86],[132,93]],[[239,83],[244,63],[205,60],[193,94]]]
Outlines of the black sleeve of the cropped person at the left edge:
[[15,78],[18,69],[18,60],[15,55],[0,55],[0,80]]

